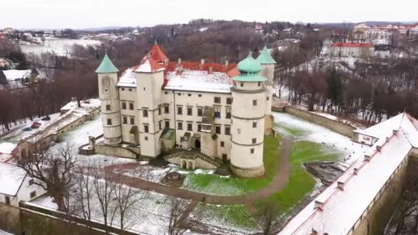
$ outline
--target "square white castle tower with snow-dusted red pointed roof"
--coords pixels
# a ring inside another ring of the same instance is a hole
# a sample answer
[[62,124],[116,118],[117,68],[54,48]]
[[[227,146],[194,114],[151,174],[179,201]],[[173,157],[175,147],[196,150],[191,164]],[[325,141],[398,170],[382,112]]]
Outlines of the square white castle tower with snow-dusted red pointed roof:
[[[157,45],[157,44],[155,44]],[[160,55],[161,56],[161,55]],[[148,54],[134,72],[137,84],[141,155],[156,157],[161,153],[162,86],[164,67]]]

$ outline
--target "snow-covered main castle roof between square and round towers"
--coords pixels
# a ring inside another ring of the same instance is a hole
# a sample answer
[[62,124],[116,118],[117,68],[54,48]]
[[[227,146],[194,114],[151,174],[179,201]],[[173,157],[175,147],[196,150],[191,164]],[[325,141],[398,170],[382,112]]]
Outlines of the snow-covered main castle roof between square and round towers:
[[222,72],[184,70],[168,72],[165,89],[181,91],[205,91],[213,93],[230,93],[232,80]]

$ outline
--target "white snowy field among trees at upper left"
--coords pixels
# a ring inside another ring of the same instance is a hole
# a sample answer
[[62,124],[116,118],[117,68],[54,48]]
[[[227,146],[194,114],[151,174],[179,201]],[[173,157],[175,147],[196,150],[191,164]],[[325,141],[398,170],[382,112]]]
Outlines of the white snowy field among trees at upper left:
[[45,45],[20,45],[22,51],[26,54],[42,54],[51,52],[60,56],[66,56],[70,53],[72,45],[100,45],[100,41],[84,39],[66,39],[66,38],[47,38]]

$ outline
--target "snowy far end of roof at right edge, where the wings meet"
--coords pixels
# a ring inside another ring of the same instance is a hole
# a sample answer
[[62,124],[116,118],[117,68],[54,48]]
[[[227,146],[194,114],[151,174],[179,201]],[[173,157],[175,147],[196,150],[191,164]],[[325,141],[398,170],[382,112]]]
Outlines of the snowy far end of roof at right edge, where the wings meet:
[[411,117],[407,113],[399,113],[395,117],[391,117],[388,120],[375,124],[364,130],[355,130],[356,133],[362,135],[368,135],[377,139],[384,139],[393,133],[393,130],[399,130],[404,132],[408,141],[412,146],[418,148],[418,121]]

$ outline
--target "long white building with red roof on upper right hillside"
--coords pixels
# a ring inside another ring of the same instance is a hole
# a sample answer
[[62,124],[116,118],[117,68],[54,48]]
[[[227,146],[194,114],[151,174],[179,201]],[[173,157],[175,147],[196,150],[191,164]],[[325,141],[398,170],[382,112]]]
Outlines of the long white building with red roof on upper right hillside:
[[371,43],[333,43],[330,45],[331,56],[361,57],[371,56],[375,47]]

